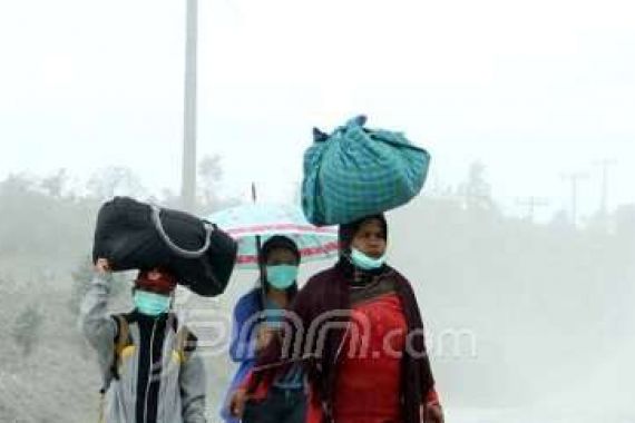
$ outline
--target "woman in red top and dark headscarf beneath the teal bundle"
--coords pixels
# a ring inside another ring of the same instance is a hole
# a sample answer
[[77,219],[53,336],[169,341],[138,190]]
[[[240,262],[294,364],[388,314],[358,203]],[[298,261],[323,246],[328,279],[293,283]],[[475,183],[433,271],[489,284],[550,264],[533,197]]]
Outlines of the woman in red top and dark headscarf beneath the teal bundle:
[[290,338],[274,338],[262,352],[233,395],[235,415],[280,372],[302,363],[309,423],[443,422],[417,298],[385,264],[387,240],[383,215],[340,227],[339,263],[300,291],[287,313],[300,328],[290,325],[296,327]]

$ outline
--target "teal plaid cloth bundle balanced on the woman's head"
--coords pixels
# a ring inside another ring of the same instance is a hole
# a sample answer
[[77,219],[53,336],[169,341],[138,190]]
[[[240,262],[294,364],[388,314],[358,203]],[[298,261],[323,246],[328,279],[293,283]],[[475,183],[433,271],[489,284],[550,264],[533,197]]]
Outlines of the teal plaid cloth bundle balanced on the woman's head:
[[302,208],[314,225],[336,225],[383,213],[416,197],[430,155],[401,132],[350,120],[330,136],[318,132],[304,154]]

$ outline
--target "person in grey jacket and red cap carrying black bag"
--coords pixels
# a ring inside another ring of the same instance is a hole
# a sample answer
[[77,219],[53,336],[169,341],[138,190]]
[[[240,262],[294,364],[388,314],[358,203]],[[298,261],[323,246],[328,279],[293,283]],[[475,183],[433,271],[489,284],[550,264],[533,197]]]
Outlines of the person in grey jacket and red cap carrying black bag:
[[104,386],[100,422],[205,423],[206,376],[196,336],[170,312],[177,281],[140,270],[135,308],[108,314],[110,265],[98,258],[80,326],[95,347]]

